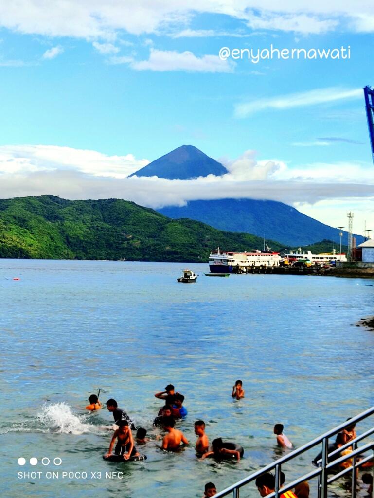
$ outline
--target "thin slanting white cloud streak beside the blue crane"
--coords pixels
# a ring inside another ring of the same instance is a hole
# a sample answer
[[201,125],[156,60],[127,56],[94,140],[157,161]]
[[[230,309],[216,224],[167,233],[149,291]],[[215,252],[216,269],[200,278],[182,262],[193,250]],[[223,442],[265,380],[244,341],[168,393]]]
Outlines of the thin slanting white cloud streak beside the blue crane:
[[257,99],[237,104],[235,116],[245,118],[266,109],[291,109],[295,107],[315,106],[347,99],[361,99],[362,89],[344,89],[338,87],[318,88],[307,92],[279,95],[268,99]]

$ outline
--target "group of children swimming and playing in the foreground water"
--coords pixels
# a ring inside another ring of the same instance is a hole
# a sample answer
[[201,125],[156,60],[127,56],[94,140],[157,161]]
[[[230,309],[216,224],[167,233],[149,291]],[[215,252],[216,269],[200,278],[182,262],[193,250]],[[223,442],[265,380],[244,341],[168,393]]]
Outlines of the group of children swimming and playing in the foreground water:
[[[181,446],[188,445],[189,442],[182,431],[175,428],[175,420],[184,418],[187,415],[187,409],[183,406],[184,396],[179,392],[175,392],[175,388],[172,384],[168,384],[164,391],[157,392],[155,397],[162,399],[164,401],[164,406],[160,408],[157,416],[153,420],[154,426],[159,426],[164,429],[166,434],[162,438],[162,444],[160,448],[166,451],[177,451]],[[235,399],[242,399],[245,397],[245,391],[243,389],[243,382],[237,380],[233,386],[232,397]],[[91,394],[88,398],[90,404],[86,406],[87,410],[97,411],[103,408],[103,404],[99,400],[98,395]],[[107,409],[113,414],[114,418],[114,429],[109,450],[104,455],[105,459],[117,460],[123,459],[127,461],[145,459],[145,456],[139,454],[135,447],[135,442],[137,444],[144,444],[148,441],[146,438],[146,429],[140,427],[136,428],[134,423],[131,421],[130,417],[127,415],[125,410],[118,407],[117,401],[113,398],[106,402]],[[132,436],[132,430],[137,429],[135,441]],[[243,456],[244,450],[240,445],[231,442],[225,442],[222,438],[216,438],[209,445],[209,439],[205,433],[205,422],[203,420],[197,420],[194,423],[194,431],[197,436],[195,443],[195,449],[197,456],[201,459],[207,457],[214,457],[218,460],[221,459],[235,459],[237,461]],[[293,445],[287,436],[283,433],[283,425],[277,423],[274,425],[273,429],[276,435],[277,445],[281,448],[292,449]],[[355,425],[347,427],[344,431],[337,436],[337,447],[349,442],[356,437]],[[117,443],[116,443],[117,442]],[[115,446],[116,445],[116,446]],[[113,453],[114,449],[114,453]],[[318,459],[318,457],[317,457]],[[317,460],[316,460],[317,461]],[[351,465],[348,462],[348,465]],[[368,477],[369,476],[369,477]],[[363,482],[373,479],[370,474],[364,474]],[[283,482],[282,482],[283,481]],[[281,473],[281,485],[284,483],[284,474]],[[275,478],[272,474],[266,473],[259,476],[256,480],[256,486],[261,497],[265,497],[269,493],[273,492],[275,489]],[[212,497],[217,493],[216,486],[213,483],[207,483],[204,489],[204,496]],[[369,490],[369,494],[372,491]],[[301,483],[298,489],[295,489],[295,493],[288,491],[281,495],[281,498],[308,498],[309,496],[309,486],[308,483]]]

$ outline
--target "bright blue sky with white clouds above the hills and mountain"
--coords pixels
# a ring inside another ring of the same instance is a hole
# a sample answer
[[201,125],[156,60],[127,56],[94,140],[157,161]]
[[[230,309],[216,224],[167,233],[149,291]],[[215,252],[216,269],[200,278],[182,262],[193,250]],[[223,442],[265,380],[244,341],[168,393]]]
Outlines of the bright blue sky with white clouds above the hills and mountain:
[[[374,85],[370,2],[67,0],[53,11],[22,3],[0,5],[1,197],[116,196],[157,207],[240,193],[335,226],[352,209],[357,232],[365,219],[374,225],[360,91]],[[224,46],[270,44],[350,46],[351,58],[218,57]],[[182,144],[231,175],[125,180]]]

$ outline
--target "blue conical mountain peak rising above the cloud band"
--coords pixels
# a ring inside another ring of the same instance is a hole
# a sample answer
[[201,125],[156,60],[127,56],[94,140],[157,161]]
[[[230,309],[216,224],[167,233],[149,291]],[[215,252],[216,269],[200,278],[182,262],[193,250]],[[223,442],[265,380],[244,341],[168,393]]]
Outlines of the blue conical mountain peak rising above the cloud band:
[[168,180],[189,180],[198,176],[227,173],[227,169],[193,145],[182,145],[152,161],[130,176],[158,176]]

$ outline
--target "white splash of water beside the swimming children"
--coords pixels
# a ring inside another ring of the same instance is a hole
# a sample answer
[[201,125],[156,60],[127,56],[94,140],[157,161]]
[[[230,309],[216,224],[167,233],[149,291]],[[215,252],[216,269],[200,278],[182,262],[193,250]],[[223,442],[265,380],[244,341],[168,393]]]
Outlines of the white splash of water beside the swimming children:
[[55,403],[44,405],[42,413],[38,415],[39,420],[50,430],[60,434],[84,434],[97,432],[97,426],[85,424],[78,415],[72,413],[66,403]]

